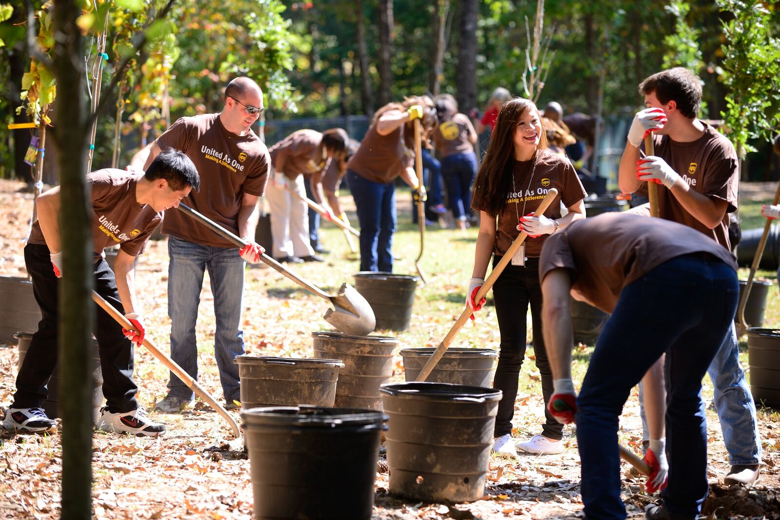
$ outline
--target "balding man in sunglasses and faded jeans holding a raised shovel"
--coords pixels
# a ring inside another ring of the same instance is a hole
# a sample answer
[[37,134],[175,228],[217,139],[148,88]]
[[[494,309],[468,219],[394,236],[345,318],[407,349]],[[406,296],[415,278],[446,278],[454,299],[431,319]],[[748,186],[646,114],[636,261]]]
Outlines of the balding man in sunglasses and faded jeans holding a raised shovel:
[[[197,379],[195,325],[204,272],[214,293],[215,357],[225,395],[225,408],[239,401],[239,373],[233,360],[244,353],[241,300],[246,262],[260,262],[263,249],[254,243],[259,216],[257,199],[268,180],[268,149],[252,132],[263,93],[249,78],[233,79],[225,88],[219,114],[181,118],[151,145],[133,156],[133,167],[151,162],[165,147],[181,149],[200,172],[203,188],[184,200],[187,206],[222,225],[250,244],[241,249],[183,213],[172,212],[162,231],[168,237],[168,316],[171,318],[171,358]],[[155,409],[178,413],[195,399],[193,391],[173,373],[168,395]]]

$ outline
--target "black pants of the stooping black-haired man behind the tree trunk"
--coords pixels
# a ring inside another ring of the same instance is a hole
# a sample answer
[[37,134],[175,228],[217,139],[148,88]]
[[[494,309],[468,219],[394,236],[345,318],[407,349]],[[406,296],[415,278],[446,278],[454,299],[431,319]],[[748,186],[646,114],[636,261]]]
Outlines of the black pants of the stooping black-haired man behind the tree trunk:
[[[30,339],[30,347],[16,376],[13,408],[41,408],[48,397],[48,381],[57,366],[57,301],[58,279],[51,269],[49,249],[45,245],[27,244],[24,262],[33,279],[33,293],[41,307],[42,319],[38,331]],[[95,290],[122,314],[124,310],[116,290],[114,272],[101,258],[94,264]],[[97,307],[94,336],[100,352],[103,371],[103,395],[112,413],[132,412],[138,408],[135,398],[138,387],[133,382],[133,343],[122,334],[122,325],[106,311]],[[83,348],[90,349],[91,343]],[[68,374],[59,374],[67,378]]]

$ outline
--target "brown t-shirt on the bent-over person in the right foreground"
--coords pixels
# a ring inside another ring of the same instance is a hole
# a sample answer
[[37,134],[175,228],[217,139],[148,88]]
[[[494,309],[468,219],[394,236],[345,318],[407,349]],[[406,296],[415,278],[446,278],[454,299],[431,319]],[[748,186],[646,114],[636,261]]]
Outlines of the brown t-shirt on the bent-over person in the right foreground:
[[734,258],[690,227],[663,219],[604,213],[577,220],[544,243],[539,279],[552,269],[571,271],[572,288],[611,313],[620,291],[667,260],[705,252],[736,271]]

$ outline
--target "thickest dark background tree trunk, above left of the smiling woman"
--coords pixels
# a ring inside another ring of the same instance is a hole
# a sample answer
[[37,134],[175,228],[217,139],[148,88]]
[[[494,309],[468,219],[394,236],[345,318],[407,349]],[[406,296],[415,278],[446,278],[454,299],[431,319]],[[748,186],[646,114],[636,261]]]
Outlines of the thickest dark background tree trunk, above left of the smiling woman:
[[461,112],[477,107],[477,16],[478,0],[463,0],[460,5],[459,51],[456,88]]

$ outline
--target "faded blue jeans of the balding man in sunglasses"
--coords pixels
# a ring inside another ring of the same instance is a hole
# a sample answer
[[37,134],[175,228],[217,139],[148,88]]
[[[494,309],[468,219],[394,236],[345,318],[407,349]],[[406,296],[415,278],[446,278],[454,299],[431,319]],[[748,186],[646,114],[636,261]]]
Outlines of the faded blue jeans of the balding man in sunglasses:
[[[243,258],[238,248],[215,248],[168,237],[168,316],[171,318],[171,359],[197,380],[195,325],[203,276],[208,269],[214,294],[216,330],[214,353],[226,402],[239,401],[239,369],[233,364],[243,356],[241,325]],[[171,373],[168,395],[192,399],[193,391]]]

